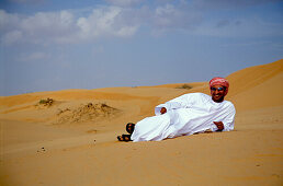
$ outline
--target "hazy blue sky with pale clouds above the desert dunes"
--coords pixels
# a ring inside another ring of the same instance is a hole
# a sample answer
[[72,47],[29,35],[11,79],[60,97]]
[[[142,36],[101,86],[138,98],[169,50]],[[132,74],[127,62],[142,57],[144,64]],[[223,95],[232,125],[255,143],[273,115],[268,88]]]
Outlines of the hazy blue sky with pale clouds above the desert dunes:
[[0,0],[0,96],[202,82],[282,58],[282,0]]

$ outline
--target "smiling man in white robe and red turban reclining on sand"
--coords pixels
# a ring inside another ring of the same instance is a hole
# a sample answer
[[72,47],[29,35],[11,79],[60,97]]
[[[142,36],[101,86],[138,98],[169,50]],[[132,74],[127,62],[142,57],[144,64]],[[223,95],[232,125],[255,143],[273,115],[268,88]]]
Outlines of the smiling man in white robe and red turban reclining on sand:
[[224,78],[210,81],[211,95],[190,93],[155,108],[156,116],[127,124],[129,135],[118,136],[120,141],[160,141],[166,138],[196,132],[229,131],[234,129],[235,107],[224,101],[229,82]]

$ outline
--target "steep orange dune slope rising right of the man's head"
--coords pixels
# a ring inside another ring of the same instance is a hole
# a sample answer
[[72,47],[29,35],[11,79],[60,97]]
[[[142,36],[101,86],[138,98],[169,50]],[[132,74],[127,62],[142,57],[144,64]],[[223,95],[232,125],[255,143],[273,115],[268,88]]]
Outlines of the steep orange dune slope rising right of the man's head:
[[238,111],[283,105],[283,60],[250,67],[227,77],[228,100]]

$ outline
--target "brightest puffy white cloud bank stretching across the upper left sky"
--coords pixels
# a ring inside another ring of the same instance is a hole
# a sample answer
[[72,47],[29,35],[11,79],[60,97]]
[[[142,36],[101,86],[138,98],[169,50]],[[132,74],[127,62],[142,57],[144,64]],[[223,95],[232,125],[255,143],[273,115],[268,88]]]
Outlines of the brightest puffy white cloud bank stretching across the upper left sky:
[[80,43],[109,36],[128,37],[136,33],[139,23],[124,21],[126,12],[118,7],[100,7],[80,18],[69,10],[20,18],[0,10],[0,37],[4,44],[42,45]]

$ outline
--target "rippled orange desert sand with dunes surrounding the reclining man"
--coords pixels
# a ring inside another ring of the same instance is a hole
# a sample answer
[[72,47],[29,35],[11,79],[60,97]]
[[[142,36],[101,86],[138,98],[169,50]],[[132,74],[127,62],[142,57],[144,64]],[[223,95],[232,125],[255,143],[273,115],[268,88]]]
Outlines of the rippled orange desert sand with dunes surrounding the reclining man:
[[226,78],[234,131],[158,142],[116,136],[207,82],[2,96],[0,185],[283,185],[283,60]]

